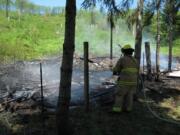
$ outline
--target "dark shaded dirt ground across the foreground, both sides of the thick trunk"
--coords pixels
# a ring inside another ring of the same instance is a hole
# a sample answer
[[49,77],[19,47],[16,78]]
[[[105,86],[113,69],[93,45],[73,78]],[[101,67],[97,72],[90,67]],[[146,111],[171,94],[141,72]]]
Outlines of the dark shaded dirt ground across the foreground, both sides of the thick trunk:
[[[170,82],[170,81],[168,81]],[[113,102],[100,101],[91,104],[89,113],[83,106],[70,110],[73,135],[178,135],[180,132],[180,91],[163,87],[163,82],[146,82],[146,98],[143,92],[134,101],[130,113],[109,113]],[[161,87],[161,89],[159,88]],[[161,90],[161,91],[156,91]],[[151,111],[166,121],[156,118]],[[28,113],[27,113],[28,114]],[[45,115],[45,134],[55,135],[55,115]],[[40,112],[22,115],[16,112],[0,113],[0,135],[41,135],[42,119]],[[167,122],[168,121],[168,122]]]

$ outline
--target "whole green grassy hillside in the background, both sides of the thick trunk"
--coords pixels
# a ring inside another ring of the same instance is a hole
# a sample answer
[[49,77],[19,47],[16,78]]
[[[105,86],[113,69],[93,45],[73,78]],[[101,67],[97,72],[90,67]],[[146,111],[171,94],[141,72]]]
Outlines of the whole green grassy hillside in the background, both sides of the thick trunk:
[[[0,61],[31,60],[62,53],[64,40],[64,14],[21,16],[11,12],[10,21],[0,11]],[[76,17],[75,53],[83,54],[83,42],[89,42],[89,53],[108,56],[110,52],[110,29],[105,15],[95,13],[95,24],[91,25],[91,14],[78,11]],[[134,45],[134,36],[124,20],[119,19],[113,31],[113,52],[120,56],[118,44]],[[173,55],[179,56],[180,39],[174,41]],[[163,54],[168,48],[161,47]]]

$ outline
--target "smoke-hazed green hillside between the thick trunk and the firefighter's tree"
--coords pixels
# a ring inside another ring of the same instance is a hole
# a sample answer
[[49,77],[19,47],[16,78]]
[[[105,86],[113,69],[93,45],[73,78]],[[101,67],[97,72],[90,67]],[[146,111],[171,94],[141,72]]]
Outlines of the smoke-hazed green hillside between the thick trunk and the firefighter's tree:
[[[76,22],[76,53],[83,53],[83,42],[90,44],[90,54],[95,56],[108,56],[110,53],[110,26],[107,22],[107,16],[96,13],[96,23],[91,25],[90,13],[80,11],[77,14]],[[118,19],[115,22],[113,31],[113,51],[116,56],[120,54],[118,44],[134,44],[134,37],[127,28],[125,21]]]

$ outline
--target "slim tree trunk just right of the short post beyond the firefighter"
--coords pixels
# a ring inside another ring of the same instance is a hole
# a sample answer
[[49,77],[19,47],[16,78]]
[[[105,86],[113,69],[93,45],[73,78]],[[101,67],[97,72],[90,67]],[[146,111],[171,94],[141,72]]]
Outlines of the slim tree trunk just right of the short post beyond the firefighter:
[[160,1],[157,0],[156,8],[157,8],[157,35],[156,35],[156,73],[157,73],[157,80],[159,80],[159,53],[160,53],[160,21],[159,21],[159,3]]

